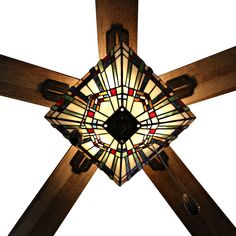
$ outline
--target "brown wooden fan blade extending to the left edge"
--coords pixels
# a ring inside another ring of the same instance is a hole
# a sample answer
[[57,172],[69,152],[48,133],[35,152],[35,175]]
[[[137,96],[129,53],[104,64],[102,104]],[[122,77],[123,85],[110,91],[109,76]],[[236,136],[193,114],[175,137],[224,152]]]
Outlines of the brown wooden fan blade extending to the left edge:
[[42,95],[42,84],[54,80],[74,85],[78,79],[0,55],[0,95],[51,107]]

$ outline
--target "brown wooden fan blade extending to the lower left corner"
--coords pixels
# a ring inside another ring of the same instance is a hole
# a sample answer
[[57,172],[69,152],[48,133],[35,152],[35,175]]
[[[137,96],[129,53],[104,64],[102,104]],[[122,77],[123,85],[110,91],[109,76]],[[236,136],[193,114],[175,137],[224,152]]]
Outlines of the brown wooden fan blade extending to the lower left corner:
[[71,146],[9,236],[55,234],[97,169],[92,165],[85,172],[73,173],[70,161],[76,153],[77,148]]

